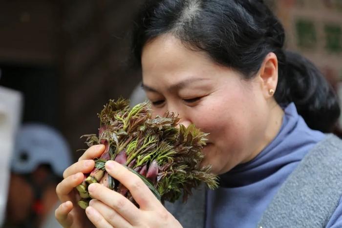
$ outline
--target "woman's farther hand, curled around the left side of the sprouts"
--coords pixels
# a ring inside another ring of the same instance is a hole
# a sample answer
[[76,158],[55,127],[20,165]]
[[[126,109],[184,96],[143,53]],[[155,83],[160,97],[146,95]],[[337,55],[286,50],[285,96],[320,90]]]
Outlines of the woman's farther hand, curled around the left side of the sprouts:
[[91,146],[77,163],[65,169],[64,180],[56,187],[58,198],[62,204],[55,211],[57,221],[64,228],[93,227],[87,219],[84,209],[77,205],[79,196],[74,188],[83,182],[83,173],[89,173],[93,170],[95,166],[93,158],[100,157],[104,150],[104,145]]

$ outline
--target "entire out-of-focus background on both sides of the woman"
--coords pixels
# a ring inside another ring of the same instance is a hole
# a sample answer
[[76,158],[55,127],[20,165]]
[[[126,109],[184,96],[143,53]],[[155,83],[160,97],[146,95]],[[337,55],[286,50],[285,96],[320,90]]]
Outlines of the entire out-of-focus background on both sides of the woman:
[[[266,2],[287,48],[316,63],[342,100],[342,0]],[[140,3],[0,0],[2,227],[59,227],[54,190],[86,147],[80,136],[97,132],[108,99],[128,98],[140,83],[128,64]],[[342,119],[340,137],[341,128]]]

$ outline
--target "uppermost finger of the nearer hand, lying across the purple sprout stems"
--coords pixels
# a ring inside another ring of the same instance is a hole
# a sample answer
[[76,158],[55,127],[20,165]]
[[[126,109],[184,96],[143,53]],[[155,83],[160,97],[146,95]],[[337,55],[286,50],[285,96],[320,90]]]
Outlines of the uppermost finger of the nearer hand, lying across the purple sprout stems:
[[157,203],[160,204],[143,180],[141,180],[141,178],[136,174],[129,171],[128,168],[114,161],[107,161],[105,167],[110,176],[128,188],[140,208],[152,209],[155,208]]

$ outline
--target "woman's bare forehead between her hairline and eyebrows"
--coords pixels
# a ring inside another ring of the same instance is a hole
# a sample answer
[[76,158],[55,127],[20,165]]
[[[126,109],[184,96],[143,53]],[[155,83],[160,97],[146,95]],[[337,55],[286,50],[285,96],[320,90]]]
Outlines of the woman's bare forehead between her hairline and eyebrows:
[[[154,88],[195,80],[212,85],[241,83],[241,74],[214,62],[203,51],[193,51],[172,35],[147,43],[142,52],[143,84]],[[197,80],[201,79],[201,81]]]

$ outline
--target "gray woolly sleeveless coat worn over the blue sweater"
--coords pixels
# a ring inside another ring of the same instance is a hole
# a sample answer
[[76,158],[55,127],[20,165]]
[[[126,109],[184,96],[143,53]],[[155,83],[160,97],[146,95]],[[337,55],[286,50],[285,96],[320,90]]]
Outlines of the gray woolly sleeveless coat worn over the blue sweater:
[[[325,227],[342,195],[341,174],[342,141],[329,134],[290,174],[256,227]],[[186,204],[177,201],[165,207],[184,228],[204,228],[205,192],[201,187]]]

